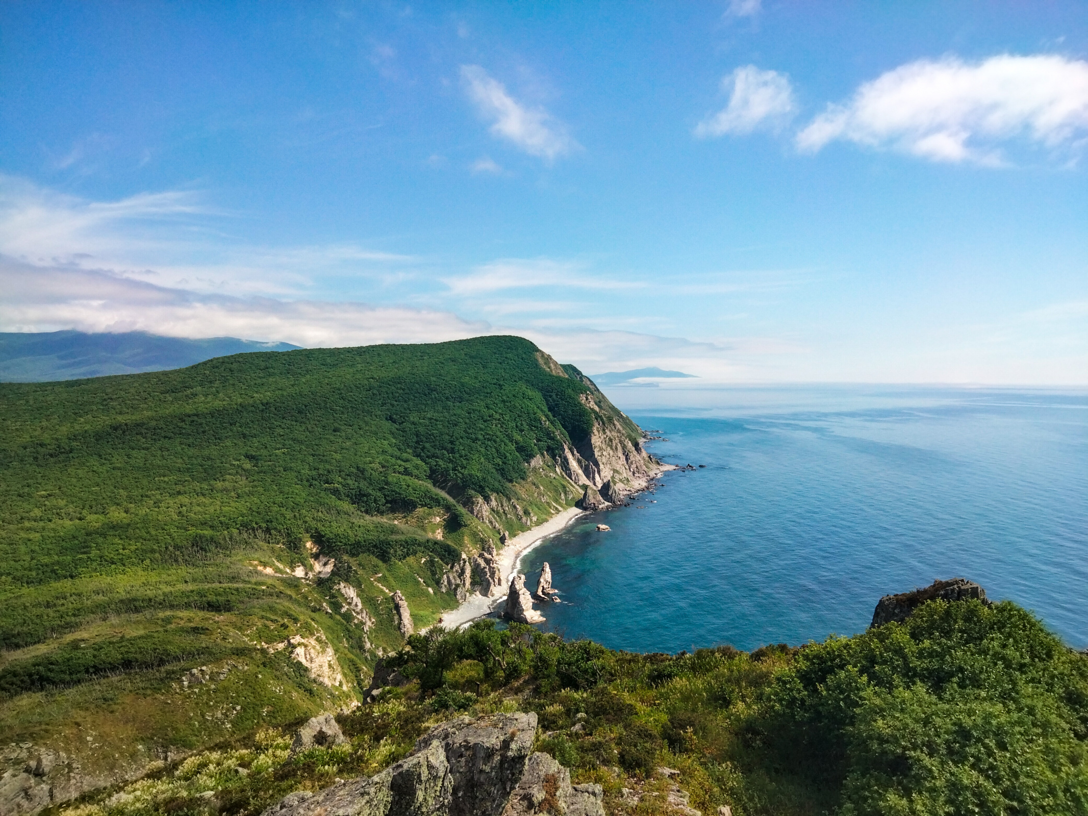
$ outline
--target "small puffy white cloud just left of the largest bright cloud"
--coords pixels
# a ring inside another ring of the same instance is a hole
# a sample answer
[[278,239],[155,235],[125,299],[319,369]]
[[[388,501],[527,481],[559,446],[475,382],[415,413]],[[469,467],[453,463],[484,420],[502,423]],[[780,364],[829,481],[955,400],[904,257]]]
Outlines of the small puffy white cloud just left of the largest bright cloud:
[[775,129],[789,121],[795,110],[790,77],[777,71],[744,65],[722,78],[721,87],[730,91],[729,104],[698,123],[695,127],[698,137]]

